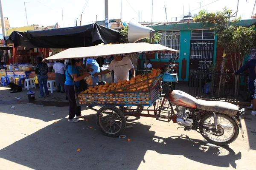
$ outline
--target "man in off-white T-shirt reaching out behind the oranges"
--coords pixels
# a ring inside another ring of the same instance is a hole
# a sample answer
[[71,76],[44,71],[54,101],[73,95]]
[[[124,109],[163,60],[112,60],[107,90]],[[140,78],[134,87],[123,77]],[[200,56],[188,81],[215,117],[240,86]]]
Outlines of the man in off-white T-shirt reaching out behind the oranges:
[[131,63],[131,60],[128,57],[117,56],[114,57],[114,60],[111,61],[108,69],[101,71],[99,73],[94,73],[93,76],[98,76],[101,74],[108,74],[111,71],[114,71],[114,82],[118,82],[119,80],[129,80],[129,70],[131,70],[131,74],[135,77],[134,66]]

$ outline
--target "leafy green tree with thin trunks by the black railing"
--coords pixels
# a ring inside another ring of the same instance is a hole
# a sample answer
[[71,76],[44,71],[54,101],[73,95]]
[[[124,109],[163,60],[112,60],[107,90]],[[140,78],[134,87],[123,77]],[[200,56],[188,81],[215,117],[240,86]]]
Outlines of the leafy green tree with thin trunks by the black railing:
[[[238,20],[231,20],[230,15],[232,10],[227,8],[223,8],[223,11],[208,12],[206,10],[202,10],[199,12],[197,16],[195,16],[194,20],[196,22],[201,22],[205,24],[213,24],[213,29],[215,34],[218,35],[218,44],[224,48],[223,60],[221,63],[221,73],[226,72],[224,70],[225,64],[228,63],[226,59],[226,54],[230,55],[231,64],[233,71],[237,71],[242,64],[244,63],[244,58],[247,54],[250,53],[250,48],[255,46],[255,30],[253,30],[254,26],[251,27],[243,27],[238,26]],[[235,87],[235,95],[239,92],[239,77],[235,77],[236,79],[236,87]],[[219,83],[219,91],[222,78]]]

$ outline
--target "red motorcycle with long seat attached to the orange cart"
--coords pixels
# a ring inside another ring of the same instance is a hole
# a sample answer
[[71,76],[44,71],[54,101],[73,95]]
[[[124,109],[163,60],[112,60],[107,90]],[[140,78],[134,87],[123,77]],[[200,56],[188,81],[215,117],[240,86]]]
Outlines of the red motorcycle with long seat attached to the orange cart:
[[[175,64],[170,64],[163,74],[172,75],[174,67]],[[183,91],[172,89],[166,92],[163,103],[166,100],[177,124],[183,126],[184,130],[196,130],[208,142],[229,144],[238,137],[239,127],[243,135],[241,115],[244,108],[239,110],[238,106],[228,102],[196,99]],[[166,106],[162,104],[162,107]]]

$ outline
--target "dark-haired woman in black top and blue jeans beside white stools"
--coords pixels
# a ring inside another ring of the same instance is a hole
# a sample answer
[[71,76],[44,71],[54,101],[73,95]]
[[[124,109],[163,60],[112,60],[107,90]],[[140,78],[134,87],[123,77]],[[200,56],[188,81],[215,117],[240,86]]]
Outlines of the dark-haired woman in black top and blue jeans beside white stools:
[[45,98],[44,91],[46,96],[49,96],[49,91],[47,88],[47,73],[48,73],[48,66],[46,63],[42,62],[42,57],[37,57],[38,65],[36,65],[35,74],[38,75],[38,83],[40,88],[40,97],[39,98]]

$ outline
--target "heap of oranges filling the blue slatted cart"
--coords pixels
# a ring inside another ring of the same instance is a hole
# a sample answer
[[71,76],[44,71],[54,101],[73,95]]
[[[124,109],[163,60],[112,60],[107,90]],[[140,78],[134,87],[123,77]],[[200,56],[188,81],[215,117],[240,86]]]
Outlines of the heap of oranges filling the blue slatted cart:
[[[105,85],[89,86],[86,91],[82,91],[79,96],[79,102],[92,102],[97,101],[99,104],[107,101],[108,103],[122,103],[129,101],[130,103],[136,103],[138,101],[143,101],[148,103],[148,95],[144,94],[120,94],[111,92],[128,92],[128,91],[148,91],[148,87],[151,86],[154,79],[161,74],[160,69],[153,69],[148,75],[137,75],[134,78],[127,80],[119,80],[117,83],[106,83]],[[109,93],[110,92],[110,93]],[[105,94],[106,93],[106,94]],[[83,94],[87,94],[84,98]],[[114,101],[114,102],[113,102]]]

